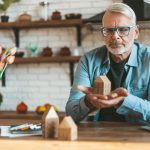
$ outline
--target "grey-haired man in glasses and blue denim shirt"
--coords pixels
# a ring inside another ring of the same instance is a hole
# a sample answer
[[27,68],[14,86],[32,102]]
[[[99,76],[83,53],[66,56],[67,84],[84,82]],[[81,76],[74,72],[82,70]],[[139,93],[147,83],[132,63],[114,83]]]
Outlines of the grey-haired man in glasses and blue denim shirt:
[[[134,42],[138,38],[134,11],[114,3],[105,12],[101,33],[105,45],[80,60],[66,105],[76,122],[97,111],[94,120],[150,122],[150,48]],[[97,76],[112,83],[109,95],[93,94]]]

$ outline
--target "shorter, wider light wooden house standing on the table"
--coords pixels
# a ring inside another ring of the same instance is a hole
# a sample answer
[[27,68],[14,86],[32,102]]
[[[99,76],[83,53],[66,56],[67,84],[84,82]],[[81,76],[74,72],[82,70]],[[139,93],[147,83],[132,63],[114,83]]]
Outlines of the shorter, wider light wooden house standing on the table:
[[70,116],[65,117],[58,129],[59,140],[76,140],[78,137],[78,129]]

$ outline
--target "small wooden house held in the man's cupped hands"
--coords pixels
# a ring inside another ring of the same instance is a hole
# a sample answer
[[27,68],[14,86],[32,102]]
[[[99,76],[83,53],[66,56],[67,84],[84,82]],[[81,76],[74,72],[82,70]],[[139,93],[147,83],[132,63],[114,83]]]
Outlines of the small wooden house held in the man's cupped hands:
[[107,95],[111,91],[111,82],[107,76],[98,76],[96,77],[93,85],[93,93]]

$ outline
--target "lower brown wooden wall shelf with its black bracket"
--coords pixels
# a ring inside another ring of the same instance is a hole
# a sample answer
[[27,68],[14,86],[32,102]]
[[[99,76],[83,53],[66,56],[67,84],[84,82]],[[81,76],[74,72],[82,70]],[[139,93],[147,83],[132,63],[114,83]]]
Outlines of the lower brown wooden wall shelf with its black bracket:
[[[30,57],[16,58],[14,64],[29,64],[29,63],[69,63],[70,84],[73,84],[74,78],[74,63],[80,60],[81,56],[53,56],[53,57]],[[5,83],[4,83],[5,84]]]

